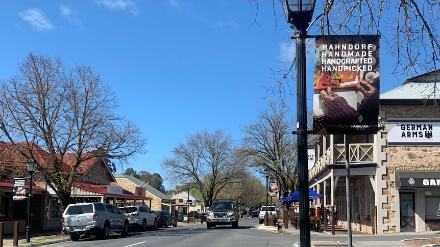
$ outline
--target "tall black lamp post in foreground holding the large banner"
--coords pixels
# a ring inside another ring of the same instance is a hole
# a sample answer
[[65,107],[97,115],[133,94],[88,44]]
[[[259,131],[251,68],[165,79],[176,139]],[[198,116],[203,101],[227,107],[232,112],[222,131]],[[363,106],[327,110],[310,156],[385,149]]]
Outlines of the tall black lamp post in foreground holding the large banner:
[[296,28],[298,187],[300,201],[300,245],[310,246],[309,190],[307,169],[306,36],[316,0],[280,0],[290,27]]

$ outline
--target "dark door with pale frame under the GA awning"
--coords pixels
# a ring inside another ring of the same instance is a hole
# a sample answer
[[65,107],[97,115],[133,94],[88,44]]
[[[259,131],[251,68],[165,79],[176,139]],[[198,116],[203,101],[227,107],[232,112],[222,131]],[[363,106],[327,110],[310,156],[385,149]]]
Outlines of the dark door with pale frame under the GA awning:
[[415,231],[414,193],[400,193],[400,229]]

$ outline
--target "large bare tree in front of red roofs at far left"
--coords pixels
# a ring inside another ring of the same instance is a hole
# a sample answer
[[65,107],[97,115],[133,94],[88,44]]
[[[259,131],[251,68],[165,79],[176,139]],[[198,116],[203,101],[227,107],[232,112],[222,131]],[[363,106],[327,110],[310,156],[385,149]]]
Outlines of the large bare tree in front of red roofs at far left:
[[66,69],[59,58],[29,53],[18,73],[2,81],[0,93],[1,138],[25,157],[39,148],[50,154],[38,171],[63,208],[80,163],[102,157],[123,166],[145,151],[139,128],[115,114],[117,99],[89,66]]

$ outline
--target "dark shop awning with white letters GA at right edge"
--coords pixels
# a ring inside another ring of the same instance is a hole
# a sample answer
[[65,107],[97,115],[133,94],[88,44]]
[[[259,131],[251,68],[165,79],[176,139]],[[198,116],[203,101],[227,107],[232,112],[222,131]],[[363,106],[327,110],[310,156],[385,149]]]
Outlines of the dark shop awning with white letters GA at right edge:
[[440,189],[440,171],[396,171],[397,189]]

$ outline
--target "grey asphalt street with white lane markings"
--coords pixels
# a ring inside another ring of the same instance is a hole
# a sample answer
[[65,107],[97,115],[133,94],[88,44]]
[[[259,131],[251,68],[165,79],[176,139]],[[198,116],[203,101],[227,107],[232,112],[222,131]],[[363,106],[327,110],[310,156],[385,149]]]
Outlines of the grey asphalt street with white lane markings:
[[[206,224],[178,225],[178,227],[159,228],[147,232],[130,232],[127,236],[111,234],[108,239],[82,238],[77,242],[67,241],[45,246],[93,246],[102,245],[109,247],[132,247],[132,246],[244,246],[244,247],[267,247],[289,246],[300,241],[298,234],[283,234],[276,231],[257,229],[257,218],[240,219],[238,229],[231,226],[218,226],[207,229]],[[353,236],[353,242],[365,241],[399,241],[408,238],[420,238],[417,233],[412,234],[384,234]],[[433,237],[433,236],[425,236]],[[311,235],[311,241],[347,241],[347,236],[339,235]]]

